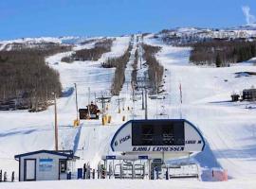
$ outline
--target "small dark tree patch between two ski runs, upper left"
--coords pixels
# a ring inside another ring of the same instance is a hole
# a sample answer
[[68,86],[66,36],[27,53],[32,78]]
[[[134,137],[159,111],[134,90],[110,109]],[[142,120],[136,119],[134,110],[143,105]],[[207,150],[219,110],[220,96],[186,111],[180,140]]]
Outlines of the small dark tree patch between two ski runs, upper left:
[[111,51],[113,39],[103,39],[100,42],[95,43],[94,48],[81,49],[76,51],[70,57],[64,57],[62,61],[72,62],[74,60],[99,60],[103,53]]

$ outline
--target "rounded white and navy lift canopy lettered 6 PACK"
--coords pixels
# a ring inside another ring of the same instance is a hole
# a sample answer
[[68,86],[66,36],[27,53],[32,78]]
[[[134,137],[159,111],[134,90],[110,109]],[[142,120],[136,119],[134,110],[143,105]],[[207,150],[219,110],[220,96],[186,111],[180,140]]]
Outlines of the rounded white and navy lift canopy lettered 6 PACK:
[[111,141],[113,151],[125,154],[180,157],[201,152],[204,147],[199,129],[186,119],[130,120],[117,130]]

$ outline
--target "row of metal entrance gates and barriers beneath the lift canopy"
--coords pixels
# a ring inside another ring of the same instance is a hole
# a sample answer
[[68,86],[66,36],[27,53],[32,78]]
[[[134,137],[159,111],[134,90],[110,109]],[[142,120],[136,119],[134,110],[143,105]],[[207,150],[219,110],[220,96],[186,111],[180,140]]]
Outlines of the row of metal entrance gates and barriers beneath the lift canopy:
[[169,180],[200,178],[196,163],[166,164],[161,159],[148,156],[103,156],[105,176],[108,179]]

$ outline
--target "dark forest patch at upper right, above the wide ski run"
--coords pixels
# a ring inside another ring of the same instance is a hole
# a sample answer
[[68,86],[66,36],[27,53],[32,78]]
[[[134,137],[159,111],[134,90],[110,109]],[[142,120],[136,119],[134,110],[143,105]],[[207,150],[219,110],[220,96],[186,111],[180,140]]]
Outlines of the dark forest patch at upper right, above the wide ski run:
[[216,41],[193,43],[190,61],[196,65],[229,66],[232,62],[250,60],[256,55],[256,43],[247,41]]

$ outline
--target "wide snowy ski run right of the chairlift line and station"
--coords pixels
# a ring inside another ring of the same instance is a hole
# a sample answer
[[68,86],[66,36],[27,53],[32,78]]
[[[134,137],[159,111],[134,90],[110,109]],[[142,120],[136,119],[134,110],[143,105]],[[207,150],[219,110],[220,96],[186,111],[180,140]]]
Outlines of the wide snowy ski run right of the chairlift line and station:
[[[189,48],[173,47],[154,40],[146,43],[160,45],[157,59],[168,69],[166,87],[168,114],[182,117],[202,130],[218,163],[228,169],[230,178],[256,177],[255,110],[247,110],[250,103],[230,103],[230,94],[250,88],[256,77],[235,77],[236,72],[255,72],[252,63],[240,63],[229,68],[198,67],[189,64]],[[228,81],[225,81],[225,80]],[[183,104],[180,106],[179,83]],[[252,106],[255,106],[255,104]],[[177,108],[178,107],[178,108]],[[209,160],[198,157],[201,164]]]

